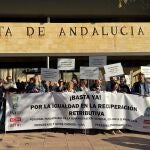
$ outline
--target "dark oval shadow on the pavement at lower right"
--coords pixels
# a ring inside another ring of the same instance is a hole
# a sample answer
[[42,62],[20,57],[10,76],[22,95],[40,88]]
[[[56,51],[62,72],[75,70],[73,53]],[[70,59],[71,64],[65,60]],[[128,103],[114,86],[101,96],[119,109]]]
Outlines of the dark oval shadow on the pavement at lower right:
[[103,141],[126,148],[150,150],[150,139],[143,137],[122,136],[103,139]]

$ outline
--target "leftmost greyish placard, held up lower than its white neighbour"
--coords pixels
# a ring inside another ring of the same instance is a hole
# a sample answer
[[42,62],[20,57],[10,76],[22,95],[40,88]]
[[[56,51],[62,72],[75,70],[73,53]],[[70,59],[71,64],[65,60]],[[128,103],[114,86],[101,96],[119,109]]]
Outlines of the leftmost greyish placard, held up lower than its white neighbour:
[[41,68],[41,78],[45,81],[58,81],[59,80],[59,70],[58,69],[47,69]]

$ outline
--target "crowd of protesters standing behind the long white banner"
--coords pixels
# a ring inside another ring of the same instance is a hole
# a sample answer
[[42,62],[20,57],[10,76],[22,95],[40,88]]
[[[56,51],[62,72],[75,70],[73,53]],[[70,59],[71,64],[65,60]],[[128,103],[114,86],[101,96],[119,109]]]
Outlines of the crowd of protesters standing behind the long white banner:
[[[87,80],[78,81],[77,78],[72,78],[70,82],[64,82],[60,79],[58,82],[41,81],[39,75],[30,78],[28,83],[20,82],[14,83],[11,76],[7,76],[6,81],[0,79],[0,110],[4,101],[5,93],[45,93],[45,92],[79,92],[79,91],[108,91],[121,92],[128,94],[138,94],[148,96],[150,94],[150,82],[146,80],[143,73],[139,73],[138,81],[135,82],[132,88],[126,84],[125,76],[120,76],[119,83],[115,81],[115,77],[110,77],[110,81],[104,83],[104,80],[99,79],[93,81],[91,86]],[[114,130],[112,131],[114,134]],[[121,133],[121,131],[117,131]]]

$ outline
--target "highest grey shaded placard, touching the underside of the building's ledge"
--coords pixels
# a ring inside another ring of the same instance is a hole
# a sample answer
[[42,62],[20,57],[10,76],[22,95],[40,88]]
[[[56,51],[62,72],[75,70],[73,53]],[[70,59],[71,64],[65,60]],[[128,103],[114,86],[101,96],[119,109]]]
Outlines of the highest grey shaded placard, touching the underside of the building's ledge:
[[89,56],[90,67],[104,67],[107,65],[107,56]]

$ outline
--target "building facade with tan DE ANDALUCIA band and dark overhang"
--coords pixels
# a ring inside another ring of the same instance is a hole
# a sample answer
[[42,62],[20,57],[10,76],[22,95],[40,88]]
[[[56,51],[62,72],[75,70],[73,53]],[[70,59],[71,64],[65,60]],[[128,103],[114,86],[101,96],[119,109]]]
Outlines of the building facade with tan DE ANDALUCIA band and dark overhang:
[[121,62],[129,75],[149,65],[149,8],[148,0],[2,1],[0,76],[23,79],[20,70],[47,67],[47,56],[51,68],[75,58],[79,72],[95,55]]

